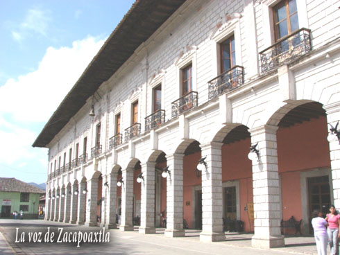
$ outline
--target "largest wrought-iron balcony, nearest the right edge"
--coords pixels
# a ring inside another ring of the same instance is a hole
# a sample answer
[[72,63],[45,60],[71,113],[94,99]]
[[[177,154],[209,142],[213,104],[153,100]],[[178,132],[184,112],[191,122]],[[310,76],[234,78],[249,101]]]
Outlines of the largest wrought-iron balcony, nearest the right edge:
[[261,71],[265,73],[293,62],[312,51],[310,30],[301,28],[260,52]]

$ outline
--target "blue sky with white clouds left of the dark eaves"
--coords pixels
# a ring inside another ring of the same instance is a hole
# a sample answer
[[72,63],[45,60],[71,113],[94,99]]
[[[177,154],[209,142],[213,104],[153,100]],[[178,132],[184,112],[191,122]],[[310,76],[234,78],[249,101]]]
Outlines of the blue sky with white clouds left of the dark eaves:
[[32,144],[134,0],[0,0],[0,177],[41,184]]

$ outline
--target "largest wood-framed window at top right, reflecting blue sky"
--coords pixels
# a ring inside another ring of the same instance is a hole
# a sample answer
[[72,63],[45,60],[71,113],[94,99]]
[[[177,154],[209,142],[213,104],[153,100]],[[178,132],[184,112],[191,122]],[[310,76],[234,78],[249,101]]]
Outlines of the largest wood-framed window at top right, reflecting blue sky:
[[274,8],[275,42],[298,30],[296,0],[282,0]]

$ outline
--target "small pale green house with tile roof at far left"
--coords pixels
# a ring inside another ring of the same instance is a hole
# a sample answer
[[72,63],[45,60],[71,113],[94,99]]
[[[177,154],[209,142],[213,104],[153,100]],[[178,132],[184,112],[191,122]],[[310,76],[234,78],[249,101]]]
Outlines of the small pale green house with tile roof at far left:
[[19,179],[0,178],[0,217],[15,218],[13,212],[17,211],[19,219],[20,211],[23,211],[24,219],[37,218],[39,197],[44,193],[42,189]]

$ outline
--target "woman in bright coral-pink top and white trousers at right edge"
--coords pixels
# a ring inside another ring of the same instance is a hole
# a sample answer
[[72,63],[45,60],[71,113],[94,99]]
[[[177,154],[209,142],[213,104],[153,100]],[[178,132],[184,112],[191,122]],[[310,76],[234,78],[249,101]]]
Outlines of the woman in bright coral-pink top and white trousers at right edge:
[[330,243],[330,254],[337,254],[337,244],[339,236],[340,215],[335,210],[334,205],[330,206],[330,213],[326,216],[325,220],[328,221],[328,242]]

